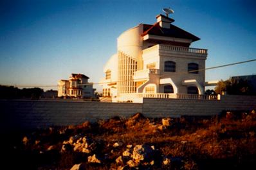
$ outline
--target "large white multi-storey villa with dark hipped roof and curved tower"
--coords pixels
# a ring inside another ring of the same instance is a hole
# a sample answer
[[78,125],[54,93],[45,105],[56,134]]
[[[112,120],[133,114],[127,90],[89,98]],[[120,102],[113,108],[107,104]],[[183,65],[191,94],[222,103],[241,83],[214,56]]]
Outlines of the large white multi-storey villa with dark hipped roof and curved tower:
[[203,95],[207,49],[190,47],[200,38],[165,15],[156,20],[118,37],[117,53],[105,64],[100,81],[103,96],[138,103],[143,98],[209,98]]

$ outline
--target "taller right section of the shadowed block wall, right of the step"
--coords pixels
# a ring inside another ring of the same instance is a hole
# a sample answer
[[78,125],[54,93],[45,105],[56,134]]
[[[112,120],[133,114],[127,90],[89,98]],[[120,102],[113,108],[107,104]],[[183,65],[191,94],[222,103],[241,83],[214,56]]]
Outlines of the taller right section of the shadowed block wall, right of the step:
[[147,117],[178,117],[180,115],[216,115],[222,110],[252,110],[256,96],[221,96],[221,100],[143,99],[143,113]]

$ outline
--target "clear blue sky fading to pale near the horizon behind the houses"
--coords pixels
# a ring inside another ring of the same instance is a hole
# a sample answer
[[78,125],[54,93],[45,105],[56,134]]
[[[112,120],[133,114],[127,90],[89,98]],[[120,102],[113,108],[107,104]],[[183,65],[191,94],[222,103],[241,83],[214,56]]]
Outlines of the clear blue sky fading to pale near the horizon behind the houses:
[[[172,8],[174,25],[208,49],[206,67],[256,58],[256,10],[249,0],[0,1],[0,84],[57,85],[71,72],[98,82],[116,53],[116,38],[154,24]],[[206,80],[256,74],[256,62],[206,71]]]

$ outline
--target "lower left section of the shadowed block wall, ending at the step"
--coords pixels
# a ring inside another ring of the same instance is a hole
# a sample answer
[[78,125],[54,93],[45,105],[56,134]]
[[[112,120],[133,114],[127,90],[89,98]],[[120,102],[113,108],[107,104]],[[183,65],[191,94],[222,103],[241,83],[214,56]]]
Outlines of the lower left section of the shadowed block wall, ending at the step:
[[80,124],[118,115],[129,117],[142,112],[138,103],[86,101],[0,100],[0,131],[19,128],[45,128]]

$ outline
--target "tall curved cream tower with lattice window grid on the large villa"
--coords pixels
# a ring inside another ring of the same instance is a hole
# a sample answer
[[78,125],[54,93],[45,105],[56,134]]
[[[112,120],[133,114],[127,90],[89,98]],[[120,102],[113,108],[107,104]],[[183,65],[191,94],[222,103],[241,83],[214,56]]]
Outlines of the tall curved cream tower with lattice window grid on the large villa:
[[142,37],[143,25],[131,28],[117,38],[118,48],[118,96],[136,92],[133,72],[143,69]]

